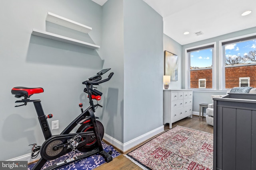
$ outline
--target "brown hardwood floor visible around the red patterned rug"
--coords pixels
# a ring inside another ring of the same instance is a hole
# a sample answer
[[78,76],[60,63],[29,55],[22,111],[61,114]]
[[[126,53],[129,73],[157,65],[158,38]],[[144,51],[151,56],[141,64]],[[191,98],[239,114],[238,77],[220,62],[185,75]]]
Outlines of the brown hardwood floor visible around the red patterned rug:
[[[213,127],[211,125],[206,124],[205,117],[203,117],[203,118],[201,117],[201,119],[199,119],[199,116],[193,115],[192,119],[185,118],[185,119],[182,119],[180,121],[173,123],[172,128],[177,125],[183,126],[183,127],[188,127],[190,129],[195,129],[198,131],[213,133]],[[170,129],[169,124],[166,124],[164,127],[164,130],[167,131],[169,129]],[[151,138],[151,139],[153,139],[153,138]],[[132,150],[140,147],[141,145],[144,145],[146,142],[150,141],[151,139],[148,139],[144,143],[141,143],[140,145],[128,150],[124,154],[128,154]],[[104,142],[106,142],[106,141],[104,141]],[[118,150],[118,149],[116,149],[116,150]],[[118,152],[122,153],[120,150],[118,150]],[[121,154],[120,156],[117,156],[111,162],[105,163],[105,164],[99,166],[98,168],[95,168],[95,170],[106,170],[106,169],[107,170],[142,170],[142,168],[140,168],[139,166],[134,164],[132,161],[130,161],[128,158],[126,158],[123,154]]]

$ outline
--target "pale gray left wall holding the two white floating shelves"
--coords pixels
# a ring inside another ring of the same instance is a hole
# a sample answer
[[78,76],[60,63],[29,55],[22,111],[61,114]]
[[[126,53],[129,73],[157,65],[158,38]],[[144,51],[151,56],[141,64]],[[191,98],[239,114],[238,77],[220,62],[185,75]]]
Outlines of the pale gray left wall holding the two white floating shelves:
[[[2,1],[0,5],[0,160],[30,152],[29,144],[44,141],[34,105],[14,107],[14,86],[42,87],[46,114],[60,121],[60,133],[80,113],[78,104],[88,106],[82,82],[102,69],[101,49],[92,50],[31,35],[32,29],[57,31],[101,45],[102,6],[86,0]],[[87,34],[45,21],[47,12],[92,27]]]

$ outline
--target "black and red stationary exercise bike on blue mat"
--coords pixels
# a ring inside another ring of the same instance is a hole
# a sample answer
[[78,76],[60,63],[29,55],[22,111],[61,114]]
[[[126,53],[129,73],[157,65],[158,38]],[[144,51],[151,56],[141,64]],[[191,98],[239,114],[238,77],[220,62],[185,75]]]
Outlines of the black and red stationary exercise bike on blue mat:
[[[94,112],[100,104],[94,104],[93,100],[100,100],[102,92],[98,91],[93,85],[99,85],[103,82],[110,80],[113,76],[111,72],[108,78],[102,80],[102,75],[105,74],[110,68],[101,70],[95,76],[88,78],[88,80],[82,82],[86,86],[84,92],[88,94],[90,106],[84,111],[81,107],[81,114],[76,117],[61,133],[60,135],[52,135],[50,127],[48,125],[47,118],[51,118],[52,114],[44,115],[40,100],[30,100],[30,96],[37,93],[44,92],[43,88],[27,88],[27,87],[14,87],[12,88],[12,94],[16,98],[24,97],[22,100],[17,100],[15,103],[24,103],[18,106],[26,106],[27,103],[33,102],[38,115],[38,120],[44,134],[45,141],[41,147],[36,147],[36,150],[40,149],[41,158],[38,160],[32,170],[40,170],[47,160],[54,160],[60,156],[69,152],[75,151],[76,149],[84,154],[76,156],[74,158],[62,161],[58,164],[54,164],[45,170],[52,170],[63,166],[64,164],[74,162],[77,159],[88,157],[90,155],[99,153],[103,156],[106,162],[112,161],[111,151],[105,152],[102,148],[102,138],[104,135],[104,127],[102,123],[96,119]],[[18,107],[15,106],[15,107]],[[102,106],[100,106],[102,107]],[[78,127],[76,133],[70,133],[74,127]]]

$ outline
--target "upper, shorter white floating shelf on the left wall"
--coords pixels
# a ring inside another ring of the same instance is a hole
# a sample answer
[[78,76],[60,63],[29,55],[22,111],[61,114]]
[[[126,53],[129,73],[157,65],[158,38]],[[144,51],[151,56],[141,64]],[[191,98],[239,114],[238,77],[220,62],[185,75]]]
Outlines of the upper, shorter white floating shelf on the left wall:
[[68,27],[70,29],[74,29],[76,31],[80,31],[83,33],[88,33],[92,30],[91,27],[88,27],[86,25],[83,25],[81,23],[78,23],[76,21],[69,20],[67,18],[64,18],[62,16],[58,16],[56,14],[52,14],[51,12],[48,12],[46,21],[56,23],[58,25],[62,25],[64,27]]

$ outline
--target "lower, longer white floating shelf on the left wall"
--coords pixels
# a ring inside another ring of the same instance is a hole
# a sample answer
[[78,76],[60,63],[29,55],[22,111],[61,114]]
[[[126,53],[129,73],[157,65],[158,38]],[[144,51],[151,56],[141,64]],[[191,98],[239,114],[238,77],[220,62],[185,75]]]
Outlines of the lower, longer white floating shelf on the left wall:
[[31,34],[39,36],[39,37],[53,39],[53,40],[56,40],[56,41],[61,41],[61,42],[64,42],[64,43],[79,45],[79,46],[90,48],[90,49],[100,48],[99,45],[86,43],[84,41],[80,41],[80,40],[77,40],[77,39],[72,39],[72,38],[69,38],[69,37],[64,37],[62,35],[57,35],[57,34],[49,33],[49,32],[46,32],[46,31],[40,31],[38,29],[33,29]]

